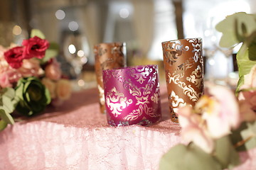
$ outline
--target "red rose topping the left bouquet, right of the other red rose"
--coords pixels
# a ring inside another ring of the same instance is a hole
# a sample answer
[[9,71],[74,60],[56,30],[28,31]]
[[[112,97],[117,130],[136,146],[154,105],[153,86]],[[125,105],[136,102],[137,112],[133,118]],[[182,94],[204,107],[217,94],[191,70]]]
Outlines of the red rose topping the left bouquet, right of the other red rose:
[[22,45],[25,46],[23,55],[26,59],[37,57],[42,59],[46,55],[46,50],[50,46],[48,40],[43,40],[37,36],[23,40]]

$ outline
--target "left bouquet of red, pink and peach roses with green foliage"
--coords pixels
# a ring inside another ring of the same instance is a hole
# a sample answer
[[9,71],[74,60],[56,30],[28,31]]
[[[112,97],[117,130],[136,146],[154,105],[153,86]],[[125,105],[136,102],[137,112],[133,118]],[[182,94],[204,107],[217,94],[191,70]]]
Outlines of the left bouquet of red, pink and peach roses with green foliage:
[[56,55],[58,45],[40,30],[32,30],[21,46],[0,46],[0,130],[14,124],[11,113],[36,115],[70,97],[70,82],[62,78]]

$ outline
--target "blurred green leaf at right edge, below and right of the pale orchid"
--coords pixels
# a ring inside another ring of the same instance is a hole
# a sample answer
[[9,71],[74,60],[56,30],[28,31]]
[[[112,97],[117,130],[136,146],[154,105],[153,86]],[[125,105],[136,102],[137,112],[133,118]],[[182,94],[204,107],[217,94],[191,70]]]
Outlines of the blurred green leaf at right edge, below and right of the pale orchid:
[[240,128],[234,130],[230,137],[238,151],[247,151],[256,147],[256,121],[242,123]]

